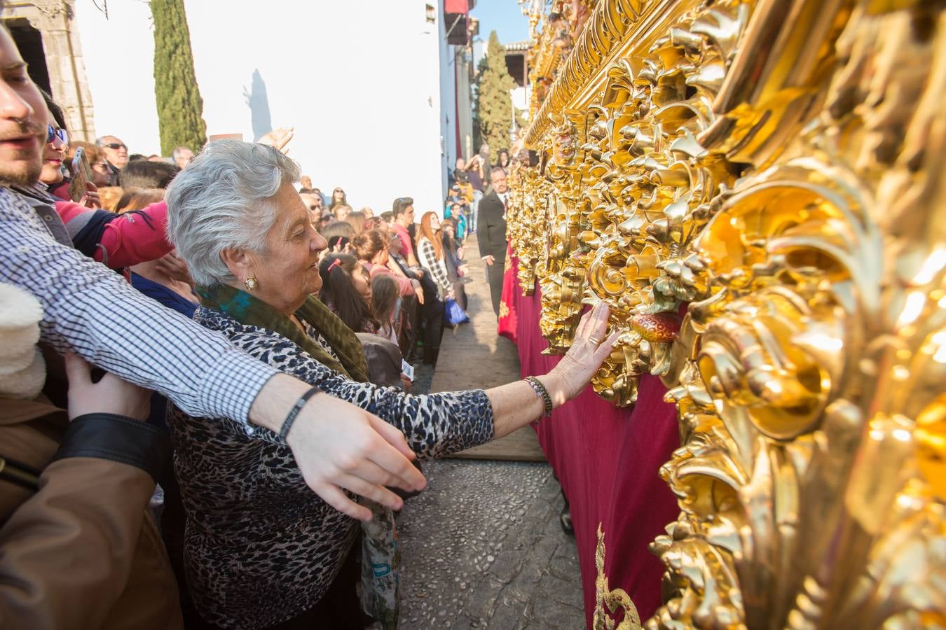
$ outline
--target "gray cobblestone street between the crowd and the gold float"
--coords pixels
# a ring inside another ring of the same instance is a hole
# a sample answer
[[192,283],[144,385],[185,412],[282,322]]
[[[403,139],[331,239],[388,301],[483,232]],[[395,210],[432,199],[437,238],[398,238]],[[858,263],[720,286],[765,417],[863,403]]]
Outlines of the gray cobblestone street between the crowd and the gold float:
[[[467,247],[476,251],[475,237]],[[496,338],[482,262],[466,258],[472,321],[457,334],[445,332],[433,373],[417,366],[414,393],[431,382],[441,391],[518,377],[515,350],[495,348],[497,341],[511,344]],[[559,525],[564,502],[548,464],[445,459],[424,462],[424,474],[428,488],[398,519],[401,628],[585,627],[578,554]]]

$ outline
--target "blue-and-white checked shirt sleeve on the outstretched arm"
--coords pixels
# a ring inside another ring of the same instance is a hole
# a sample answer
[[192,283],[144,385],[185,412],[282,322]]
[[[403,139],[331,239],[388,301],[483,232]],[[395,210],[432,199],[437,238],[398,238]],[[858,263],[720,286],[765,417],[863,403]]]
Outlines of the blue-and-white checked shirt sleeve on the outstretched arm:
[[246,423],[256,394],[276,373],[141,295],[105,265],[57,243],[7,188],[0,188],[0,281],[40,300],[41,337],[53,348],[72,349],[194,416]]

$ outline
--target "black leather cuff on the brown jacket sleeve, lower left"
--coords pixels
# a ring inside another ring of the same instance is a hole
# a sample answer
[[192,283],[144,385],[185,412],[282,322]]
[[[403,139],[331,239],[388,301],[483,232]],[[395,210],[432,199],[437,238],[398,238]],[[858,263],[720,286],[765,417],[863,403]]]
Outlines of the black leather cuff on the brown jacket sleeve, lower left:
[[157,483],[170,454],[170,436],[154,425],[115,414],[86,414],[69,424],[53,461],[109,459],[141,468]]

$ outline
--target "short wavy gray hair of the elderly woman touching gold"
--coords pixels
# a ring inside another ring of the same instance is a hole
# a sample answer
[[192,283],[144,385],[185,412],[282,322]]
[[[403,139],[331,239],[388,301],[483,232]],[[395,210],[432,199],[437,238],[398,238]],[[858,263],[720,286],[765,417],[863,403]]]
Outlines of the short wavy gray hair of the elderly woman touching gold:
[[299,165],[267,145],[210,143],[167,188],[167,236],[201,286],[235,281],[224,249],[265,253],[276,218],[272,196],[299,179]]

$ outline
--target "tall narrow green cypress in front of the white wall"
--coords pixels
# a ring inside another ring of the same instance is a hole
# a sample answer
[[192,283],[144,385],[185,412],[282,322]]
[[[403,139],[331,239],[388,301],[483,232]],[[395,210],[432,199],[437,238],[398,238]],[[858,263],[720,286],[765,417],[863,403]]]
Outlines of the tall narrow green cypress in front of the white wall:
[[158,104],[161,153],[176,147],[195,152],[207,142],[203,99],[194,75],[184,0],[149,0],[154,19],[154,95]]

